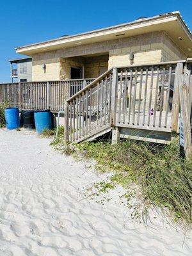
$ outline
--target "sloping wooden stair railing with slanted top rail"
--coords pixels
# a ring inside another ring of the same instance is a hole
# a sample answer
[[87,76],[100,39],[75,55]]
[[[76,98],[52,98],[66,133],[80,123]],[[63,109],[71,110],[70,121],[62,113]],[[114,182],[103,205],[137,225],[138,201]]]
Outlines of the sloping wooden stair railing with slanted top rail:
[[79,141],[110,127],[112,70],[65,102],[65,141]]

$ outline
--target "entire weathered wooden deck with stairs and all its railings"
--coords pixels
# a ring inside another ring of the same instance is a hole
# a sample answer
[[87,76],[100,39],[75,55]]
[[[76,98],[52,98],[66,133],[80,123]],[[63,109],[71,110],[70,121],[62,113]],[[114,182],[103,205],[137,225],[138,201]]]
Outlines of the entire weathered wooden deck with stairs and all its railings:
[[189,141],[191,99],[191,60],[111,68],[97,79],[0,84],[0,104],[64,110],[65,143],[110,131],[113,143],[128,137],[169,143],[180,109]]

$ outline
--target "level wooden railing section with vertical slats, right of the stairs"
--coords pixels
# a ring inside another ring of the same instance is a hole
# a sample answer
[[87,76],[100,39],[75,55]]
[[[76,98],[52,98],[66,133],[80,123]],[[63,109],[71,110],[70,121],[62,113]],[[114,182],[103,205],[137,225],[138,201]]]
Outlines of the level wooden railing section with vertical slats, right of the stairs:
[[116,126],[170,131],[175,64],[117,68]]

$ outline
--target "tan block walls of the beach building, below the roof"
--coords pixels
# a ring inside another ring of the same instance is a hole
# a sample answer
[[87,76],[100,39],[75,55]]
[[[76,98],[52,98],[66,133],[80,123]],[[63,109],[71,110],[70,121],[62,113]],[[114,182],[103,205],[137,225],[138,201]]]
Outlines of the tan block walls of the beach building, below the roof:
[[[129,60],[130,52],[134,52],[134,60]],[[100,60],[100,56],[86,58],[91,54],[109,54],[109,60]],[[75,57],[76,58],[72,58]],[[85,57],[85,58],[84,58]],[[184,59],[186,56],[172,42],[164,31],[144,35],[119,38],[105,42],[87,45],[77,45],[55,51],[42,52],[33,55],[32,80],[60,80],[70,78],[70,67],[84,65],[84,77],[97,77],[101,67],[120,67],[140,65]],[[70,58],[67,59],[67,58]],[[46,70],[42,65],[46,65]],[[103,69],[104,70],[104,69]]]

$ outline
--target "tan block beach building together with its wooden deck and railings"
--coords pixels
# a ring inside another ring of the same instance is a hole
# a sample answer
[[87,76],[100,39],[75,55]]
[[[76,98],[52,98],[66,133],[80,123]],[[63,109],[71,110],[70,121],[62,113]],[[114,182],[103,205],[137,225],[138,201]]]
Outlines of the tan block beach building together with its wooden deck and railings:
[[189,127],[192,35],[179,12],[61,36],[16,52],[32,58],[35,83],[1,84],[0,102],[65,110],[65,142],[108,133],[112,141],[169,143],[179,131],[180,109]]

